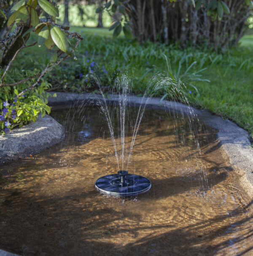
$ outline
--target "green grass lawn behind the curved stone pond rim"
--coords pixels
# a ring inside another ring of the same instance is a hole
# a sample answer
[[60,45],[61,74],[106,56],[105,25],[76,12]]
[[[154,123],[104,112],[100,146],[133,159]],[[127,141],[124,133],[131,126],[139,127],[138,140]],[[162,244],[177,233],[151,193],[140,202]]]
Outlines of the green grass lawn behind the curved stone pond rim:
[[[218,54],[209,49],[180,49],[177,46],[165,46],[147,42],[142,46],[136,40],[126,40],[123,35],[112,38],[108,29],[71,27],[70,31],[84,35],[76,52],[77,61],[68,59],[58,66],[45,79],[58,89],[82,92],[96,89],[89,78],[89,70],[94,70],[103,86],[113,84],[117,75],[127,73],[132,81],[132,91],[142,94],[148,81],[156,73],[166,74],[166,55],[172,72],[179,72],[179,77],[192,65],[188,73],[200,74],[210,80],[191,81],[186,84],[186,95],[191,105],[208,109],[213,113],[228,118],[253,134],[253,35],[245,35],[240,46]],[[46,49],[35,46],[39,51],[26,49],[17,62],[23,69],[40,68],[46,65],[50,54]],[[89,61],[89,62],[87,62]],[[94,67],[90,64],[94,62]],[[30,64],[29,64],[30,63]],[[43,65],[42,65],[43,64]],[[108,73],[107,73],[108,72]],[[86,81],[87,79],[87,81]],[[191,91],[191,93],[189,93]],[[162,97],[166,88],[156,93]]]

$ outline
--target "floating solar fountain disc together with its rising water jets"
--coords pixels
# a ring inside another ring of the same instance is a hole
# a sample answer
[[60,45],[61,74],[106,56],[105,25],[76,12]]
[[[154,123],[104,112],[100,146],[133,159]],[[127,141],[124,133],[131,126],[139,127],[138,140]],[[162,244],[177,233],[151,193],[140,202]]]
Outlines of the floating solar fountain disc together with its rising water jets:
[[[97,83],[99,84],[99,81],[97,81]],[[119,116],[119,123],[120,123],[121,159],[122,159],[122,168],[124,168],[125,131],[126,131],[125,122],[126,122],[126,110],[127,110],[127,106],[129,105],[128,104],[129,80],[124,75],[121,81],[119,79],[116,80],[115,85],[118,90],[117,106],[118,106],[118,116]],[[150,97],[148,98],[145,97],[150,87],[151,87],[151,84],[146,89],[138,109],[137,118],[135,120],[135,127],[132,134],[130,151],[129,151],[127,164],[126,164],[126,170],[118,170],[117,174],[105,175],[98,178],[95,181],[95,188],[101,194],[107,194],[115,197],[130,197],[130,196],[137,196],[138,194],[143,194],[151,189],[151,181],[148,178],[140,175],[136,175],[136,174],[129,174],[127,171],[129,160],[132,154],[132,149],[135,143],[137,131],[140,126],[143,113],[145,111],[145,105],[147,105],[148,100],[150,99]],[[154,90],[155,88],[152,88],[152,89]],[[118,151],[117,151],[115,137],[114,137],[111,115],[108,109],[108,105],[105,102],[104,94],[102,93],[101,89],[100,89],[100,93],[102,94],[102,101],[98,100],[97,103],[100,109],[102,110],[102,113],[106,117],[108,128],[110,130],[110,136],[113,141],[118,169],[120,169]],[[117,108],[117,106],[115,106],[115,108]]]

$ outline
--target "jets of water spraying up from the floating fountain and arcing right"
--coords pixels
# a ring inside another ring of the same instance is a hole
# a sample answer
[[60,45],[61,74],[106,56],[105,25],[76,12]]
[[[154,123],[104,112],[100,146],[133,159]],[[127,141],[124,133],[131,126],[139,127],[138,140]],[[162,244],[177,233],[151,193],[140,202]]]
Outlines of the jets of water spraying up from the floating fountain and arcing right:
[[[174,100],[177,99],[180,102],[186,103],[186,108],[188,108],[188,115],[186,115],[186,119],[188,119],[188,124],[190,127],[191,127],[192,120],[197,119],[197,117],[194,114],[194,112],[191,110],[191,107],[188,104],[188,100],[185,94],[183,93],[184,85],[181,83],[179,84],[175,83],[175,81],[173,81],[171,78],[164,77],[163,75],[158,74],[154,76],[149,82],[149,84],[146,86],[145,92],[143,93],[143,97],[140,97],[140,100],[137,104],[138,110],[137,110],[137,117],[134,121],[133,129],[132,129],[132,139],[129,147],[127,147],[125,138],[126,138],[126,124],[129,123],[129,120],[127,120],[127,116],[128,116],[127,110],[130,105],[129,98],[131,97],[130,95],[131,81],[126,75],[122,75],[121,78],[116,78],[116,81],[113,87],[116,93],[111,95],[110,99],[109,98],[107,99],[105,95],[102,93],[100,82],[97,78],[96,78],[96,82],[100,87],[100,94],[102,97],[94,96],[94,100],[96,101],[97,105],[100,107],[100,110],[105,116],[105,120],[108,124],[110,137],[112,139],[113,148],[115,151],[116,162],[118,165],[118,175],[121,176],[121,186],[123,183],[125,186],[128,186],[124,181],[125,176],[123,177],[123,180],[122,180],[121,170],[125,170],[126,173],[124,171],[124,175],[128,175],[129,163],[130,163],[131,155],[135,145],[135,139],[137,137],[138,129],[140,127],[140,123],[143,118],[145,109],[147,105],[150,104],[153,96],[155,96],[155,94],[159,90],[164,90],[164,91],[166,90],[167,97]],[[115,125],[112,121],[113,111],[115,110],[118,111],[117,112],[118,124],[119,124],[119,138],[118,138],[119,140],[118,141],[120,141],[118,143],[118,147],[116,145],[116,140],[115,140],[115,131],[114,131]],[[192,132],[192,135],[193,135],[194,143],[198,148],[199,154],[200,154],[198,138],[197,136],[194,135],[194,132]],[[199,180],[203,190],[205,191],[205,189],[208,189],[208,183],[206,178],[207,175],[203,170],[204,168],[201,166],[201,164],[199,164],[197,168],[199,168],[199,170],[201,171],[200,173],[202,173],[200,175]],[[117,178],[117,177],[113,177],[113,178]],[[119,181],[120,177],[118,177],[117,179],[118,179],[118,182],[120,183]],[[113,182],[113,184],[115,185],[115,182]],[[129,184],[133,184],[132,181],[131,182],[129,181]]]

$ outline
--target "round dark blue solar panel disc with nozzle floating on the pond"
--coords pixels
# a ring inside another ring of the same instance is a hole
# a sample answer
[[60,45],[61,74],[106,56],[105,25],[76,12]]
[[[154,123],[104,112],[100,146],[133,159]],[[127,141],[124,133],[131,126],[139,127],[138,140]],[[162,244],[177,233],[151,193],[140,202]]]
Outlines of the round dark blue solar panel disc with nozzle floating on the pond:
[[143,176],[128,174],[127,171],[119,171],[118,174],[98,178],[95,181],[95,188],[101,194],[129,197],[147,192],[151,188],[151,182]]

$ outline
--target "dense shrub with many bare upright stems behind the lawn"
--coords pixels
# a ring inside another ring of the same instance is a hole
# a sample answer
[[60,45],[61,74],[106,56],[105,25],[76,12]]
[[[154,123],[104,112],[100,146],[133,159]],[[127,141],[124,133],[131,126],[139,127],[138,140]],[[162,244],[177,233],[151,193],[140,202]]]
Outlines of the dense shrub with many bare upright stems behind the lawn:
[[[252,6],[250,0],[114,0],[105,8],[124,13],[140,43],[180,41],[183,47],[191,42],[226,48],[242,37]],[[116,34],[124,23],[118,22]]]

